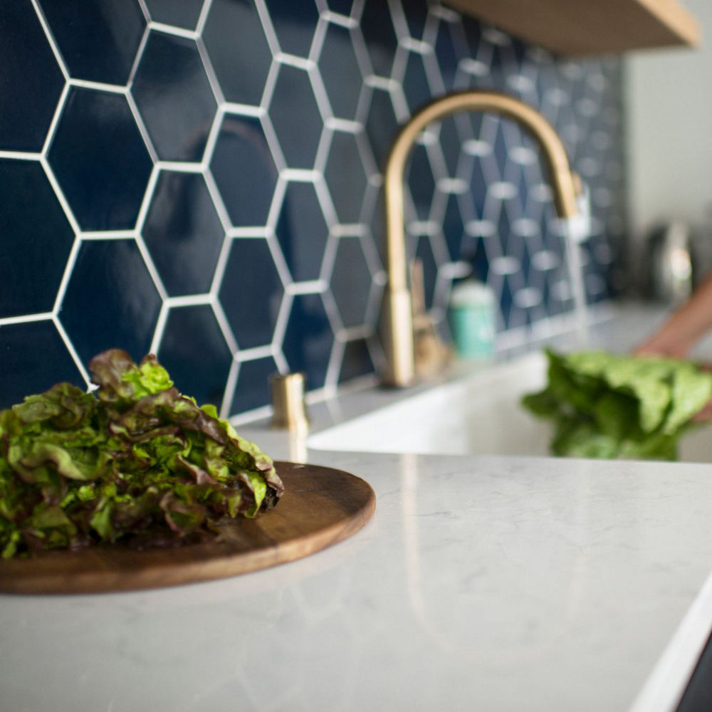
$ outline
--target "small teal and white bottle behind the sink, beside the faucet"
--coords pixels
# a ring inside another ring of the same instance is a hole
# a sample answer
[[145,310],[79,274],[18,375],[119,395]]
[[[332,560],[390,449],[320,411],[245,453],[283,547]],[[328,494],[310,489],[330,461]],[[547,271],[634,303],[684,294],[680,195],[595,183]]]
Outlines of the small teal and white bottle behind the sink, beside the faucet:
[[467,359],[487,360],[494,353],[494,293],[481,282],[456,284],[450,295],[448,322],[456,353]]

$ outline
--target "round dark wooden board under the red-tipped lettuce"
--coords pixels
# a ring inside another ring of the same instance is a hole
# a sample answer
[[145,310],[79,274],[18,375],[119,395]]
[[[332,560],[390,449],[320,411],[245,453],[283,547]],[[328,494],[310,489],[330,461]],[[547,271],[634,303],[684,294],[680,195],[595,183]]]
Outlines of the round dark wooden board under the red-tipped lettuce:
[[317,465],[275,465],[285,487],[278,505],[229,523],[219,541],[146,551],[98,545],[0,560],[0,591],[125,591],[225,578],[313,554],[370,520],[376,498],[362,479]]

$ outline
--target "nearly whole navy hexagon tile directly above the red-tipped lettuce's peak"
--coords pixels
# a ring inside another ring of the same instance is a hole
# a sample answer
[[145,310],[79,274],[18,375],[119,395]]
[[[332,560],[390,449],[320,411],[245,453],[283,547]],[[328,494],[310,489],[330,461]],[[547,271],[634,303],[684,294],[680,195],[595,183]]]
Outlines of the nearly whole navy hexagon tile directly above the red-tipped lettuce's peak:
[[110,348],[139,360],[150,349],[160,307],[135,241],[92,240],[80,248],[60,320],[84,364]]

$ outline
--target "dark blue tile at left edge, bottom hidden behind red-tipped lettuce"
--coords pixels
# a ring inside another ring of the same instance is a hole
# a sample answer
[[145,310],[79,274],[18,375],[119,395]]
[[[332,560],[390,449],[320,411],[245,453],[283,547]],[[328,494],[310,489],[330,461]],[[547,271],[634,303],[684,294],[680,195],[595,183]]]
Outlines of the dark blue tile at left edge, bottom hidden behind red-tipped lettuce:
[[86,387],[51,321],[0,326],[0,409],[68,381]]

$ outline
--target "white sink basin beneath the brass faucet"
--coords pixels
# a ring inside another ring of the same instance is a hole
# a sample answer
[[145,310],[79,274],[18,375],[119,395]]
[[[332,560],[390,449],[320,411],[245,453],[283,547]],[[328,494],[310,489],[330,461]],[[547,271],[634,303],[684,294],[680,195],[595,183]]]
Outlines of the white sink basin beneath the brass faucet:
[[[489,367],[465,379],[310,436],[318,450],[417,454],[548,456],[550,426],[520,406],[521,397],[544,387],[541,352]],[[693,431],[680,459],[712,462],[712,434]]]

